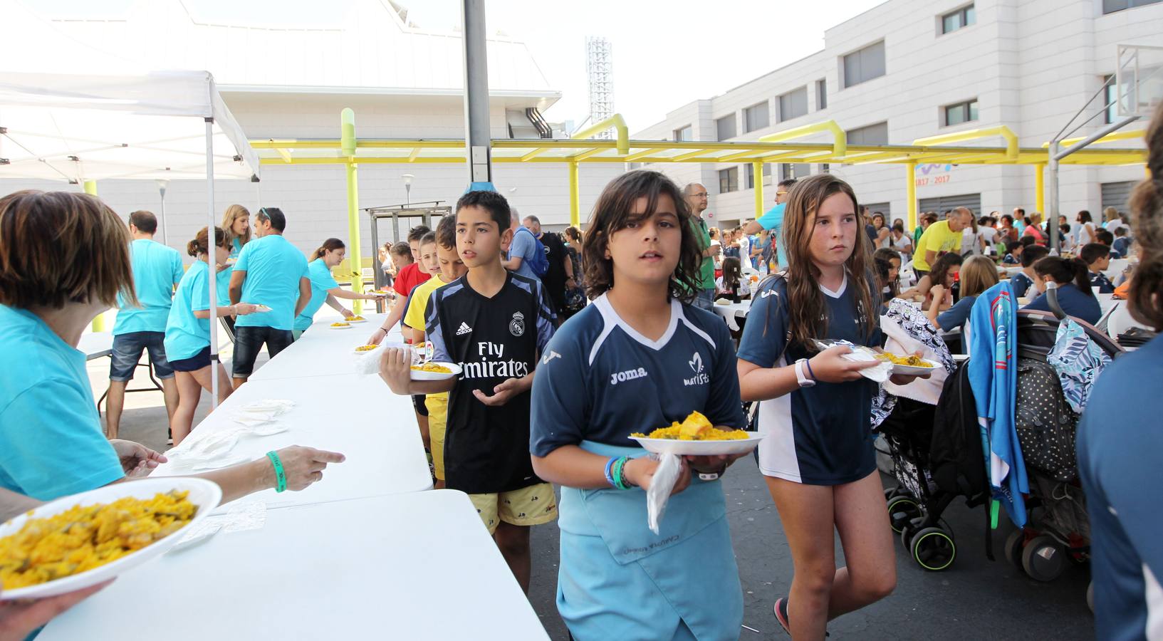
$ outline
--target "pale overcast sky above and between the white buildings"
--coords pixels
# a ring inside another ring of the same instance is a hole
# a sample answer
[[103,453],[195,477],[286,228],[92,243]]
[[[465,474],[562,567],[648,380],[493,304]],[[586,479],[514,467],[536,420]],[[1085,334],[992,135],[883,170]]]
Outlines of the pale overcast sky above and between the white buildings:
[[[155,0],[156,1],[156,0]],[[169,0],[167,0],[169,1]],[[356,0],[183,0],[198,20],[278,26],[335,26]],[[490,33],[525,40],[562,100],[551,121],[590,113],[586,36],[613,45],[614,104],[630,131],[666,112],[711,98],[823,47],[823,30],[883,0],[487,0]],[[50,16],[105,17],[134,0],[24,0]],[[451,30],[459,0],[402,1],[419,27]]]

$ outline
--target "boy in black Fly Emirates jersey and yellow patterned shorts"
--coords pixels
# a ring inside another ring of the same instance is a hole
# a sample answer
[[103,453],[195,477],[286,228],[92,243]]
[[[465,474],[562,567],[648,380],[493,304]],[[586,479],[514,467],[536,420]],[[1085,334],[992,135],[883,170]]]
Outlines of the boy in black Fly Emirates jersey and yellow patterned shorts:
[[433,292],[427,335],[433,361],[458,363],[459,377],[412,380],[411,355],[385,350],[380,377],[398,394],[450,392],[444,437],[447,486],[470,496],[505,561],[529,590],[529,526],[557,518],[554,489],[529,458],[529,389],[554,334],[541,283],[505,270],[509,207],[497,192],[456,204],[456,249],[469,268]]

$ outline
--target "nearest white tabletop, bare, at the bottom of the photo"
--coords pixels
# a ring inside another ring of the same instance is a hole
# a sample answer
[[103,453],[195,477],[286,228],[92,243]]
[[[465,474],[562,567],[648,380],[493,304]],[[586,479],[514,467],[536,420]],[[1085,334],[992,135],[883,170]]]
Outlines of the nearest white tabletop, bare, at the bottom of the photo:
[[[326,480],[324,480],[326,484]],[[465,494],[271,510],[162,556],[38,641],[548,639]]]

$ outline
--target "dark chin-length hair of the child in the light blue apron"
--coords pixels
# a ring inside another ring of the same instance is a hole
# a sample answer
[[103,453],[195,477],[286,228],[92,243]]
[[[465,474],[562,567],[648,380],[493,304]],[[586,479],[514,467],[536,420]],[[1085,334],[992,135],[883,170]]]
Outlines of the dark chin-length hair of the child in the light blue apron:
[[628,171],[611,180],[601,190],[590,214],[586,242],[582,247],[582,264],[585,265],[586,295],[598,298],[614,285],[614,262],[606,255],[609,237],[632,222],[634,202],[647,199],[645,211],[638,216],[644,220],[658,211],[658,199],[669,197],[675,204],[678,226],[683,234],[678,264],[670,278],[670,295],[684,302],[699,291],[702,268],[701,241],[694,235],[693,215],[678,185],[657,171]]

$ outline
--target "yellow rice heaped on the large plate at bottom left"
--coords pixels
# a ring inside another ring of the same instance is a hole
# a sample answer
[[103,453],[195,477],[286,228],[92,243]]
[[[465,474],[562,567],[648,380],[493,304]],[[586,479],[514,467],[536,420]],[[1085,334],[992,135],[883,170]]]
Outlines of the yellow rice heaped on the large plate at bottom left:
[[28,519],[20,532],[0,537],[0,586],[14,590],[92,570],[169,536],[198,512],[188,493],[126,497]]

